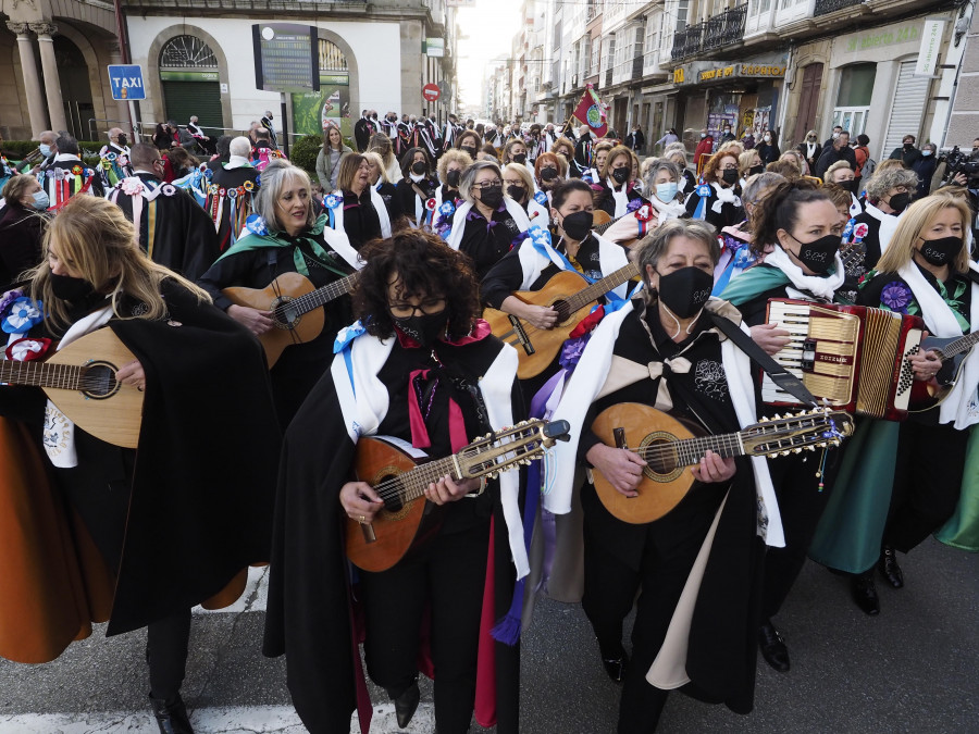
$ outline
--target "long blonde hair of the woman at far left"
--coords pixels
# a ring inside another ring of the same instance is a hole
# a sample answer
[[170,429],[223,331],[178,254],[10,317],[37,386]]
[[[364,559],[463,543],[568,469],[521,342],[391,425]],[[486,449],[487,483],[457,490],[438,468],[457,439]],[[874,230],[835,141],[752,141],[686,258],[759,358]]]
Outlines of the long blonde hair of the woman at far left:
[[[111,299],[117,319],[158,320],[166,316],[166,302],[160,295],[163,281],[172,279],[210,303],[211,297],[173,271],[154,263],[139,247],[133,223],[122,209],[106,199],[75,196],[51,219],[42,242],[44,260],[28,276],[30,297],[44,302],[51,322],[69,326],[71,318],[62,299],[51,287],[51,266],[48,262],[52,247],[58,259],[71,263],[82,278],[97,293]],[[146,308],[134,315],[122,309],[123,299],[132,299]]]

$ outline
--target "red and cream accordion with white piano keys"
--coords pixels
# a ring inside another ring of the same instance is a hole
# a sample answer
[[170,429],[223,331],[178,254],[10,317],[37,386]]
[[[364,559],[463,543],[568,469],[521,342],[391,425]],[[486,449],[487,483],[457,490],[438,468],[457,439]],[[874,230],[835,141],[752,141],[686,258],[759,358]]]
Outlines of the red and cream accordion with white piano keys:
[[[921,319],[863,306],[772,298],[767,321],[791,338],[773,359],[820,401],[868,418],[907,418],[914,382],[907,357],[921,341]],[[761,400],[800,405],[767,374],[761,380]]]

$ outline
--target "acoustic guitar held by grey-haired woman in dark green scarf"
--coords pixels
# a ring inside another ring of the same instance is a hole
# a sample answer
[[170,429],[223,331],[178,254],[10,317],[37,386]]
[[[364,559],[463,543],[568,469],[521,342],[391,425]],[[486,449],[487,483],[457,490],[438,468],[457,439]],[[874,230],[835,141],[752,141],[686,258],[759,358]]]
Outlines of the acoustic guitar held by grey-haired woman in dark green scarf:
[[352,293],[359,279],[358,272],[317,288],[299,273],[283,273],[264,288],[233,287],[221,293],[236,306],[272,312],[272,328],[258,338],[271,369],[286,347],[311,341],[323,333],[320,307]]

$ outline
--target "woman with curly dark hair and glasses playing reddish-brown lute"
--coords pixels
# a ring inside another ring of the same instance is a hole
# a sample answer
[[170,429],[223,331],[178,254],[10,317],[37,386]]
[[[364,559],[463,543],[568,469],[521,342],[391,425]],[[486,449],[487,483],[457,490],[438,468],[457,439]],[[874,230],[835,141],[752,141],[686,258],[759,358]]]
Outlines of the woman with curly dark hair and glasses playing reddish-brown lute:
[[[434,537],[387,571],[357,570],[352,590],[347,584],[340,521],[346,515],[368,533],[384,507],[371,485],[350,481],[361,436],[388,435],[443,458],[491,426],[512,425],[522,410],[516,353],[478,318],[464,254],[416,229],[363,253],[354,296],[360,321],[340,335],[345,346],[286,437],[264,651],[287,656],[293,702],[310,731],[347,732],[355,706],[365,702],[361,716],[370,716],[370,701],[357,695],[363,680],[360,631],[350,626],[356,599],[363,605],[368,674],[393,699],[401,729],[419,702],[422,651],[434,663],[438,731],[469,731],[478,672],[486,670],[482,648],[496,655],[498,731],[516,733],[519,656],[485,637],[481,615],[500,617],[513,565],[520,575],[528,571],[517,475],[483,486],[433,477],[425,499],[442,506],[429,508],[442,514]],[[487,579],[491,551],[496,577]],[[429,624],[431,650],[421,632]],[[485,713],[476,708],[479,721]]]

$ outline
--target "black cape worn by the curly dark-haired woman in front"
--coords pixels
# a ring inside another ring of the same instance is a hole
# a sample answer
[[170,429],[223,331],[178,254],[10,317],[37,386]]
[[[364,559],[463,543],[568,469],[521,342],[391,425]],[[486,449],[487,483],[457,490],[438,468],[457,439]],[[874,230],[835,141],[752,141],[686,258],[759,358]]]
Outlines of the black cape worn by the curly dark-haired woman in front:
[[[372,338],[372,337],[363,337]],[[494,337],[451,348],[454,361],[479,376],[493,363],[501,344]],[[446,349],[443,347],[443,349]],[[448,354],[446,349],[441,354]],[[515,380],[513,418],[523,414]],[[344,422],[332,372],[320,380],[285,435],[272,539],[272,574],[262,652],[287,656],[293,705],[312,734],[349,731],[357,706],[351,638],[349,567],[345,558],[339,490],[352,478],[355,444]],[[495,614],[509,608],[513,589],[506,522],[494,508]],[[519,644],[495,644],[497,731],[519,731]]]

